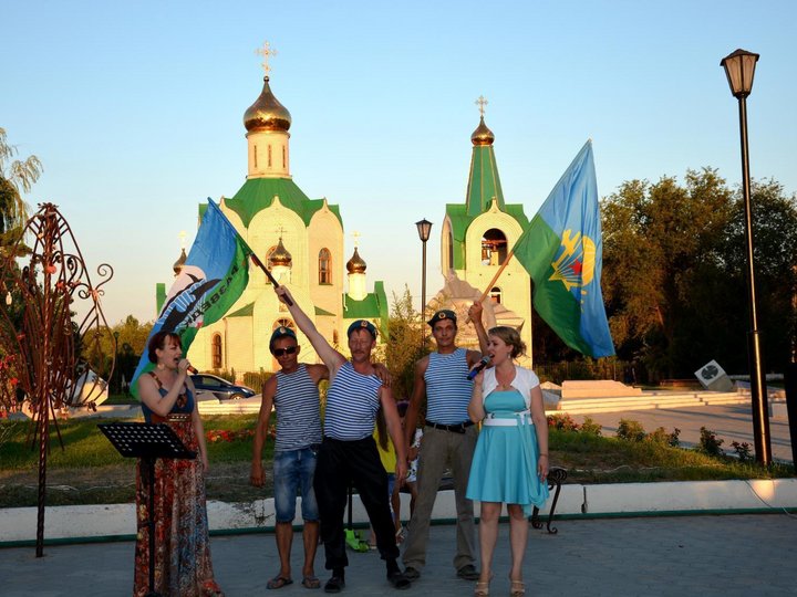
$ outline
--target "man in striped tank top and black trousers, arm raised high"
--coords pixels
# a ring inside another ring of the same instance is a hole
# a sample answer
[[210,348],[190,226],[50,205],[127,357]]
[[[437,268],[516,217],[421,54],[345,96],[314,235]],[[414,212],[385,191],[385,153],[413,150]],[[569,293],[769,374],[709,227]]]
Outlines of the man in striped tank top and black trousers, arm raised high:
[[382,408],[396,451],[396,482],[402,482],[407,463],[401,419],[390,387],[382,384],[371,363],[371,352],[376,346],[376,328],[365,320],[349,326],[349,360],[330,346],[288,289],[279,286],[275,292],[288,305],[293,321],[327,365],[330,375],[323,440],[313,482],[321,515],[325,567],[332,570],[324,591],[340,593],[345,587],[349,559],[343,512],[350,483],[356,486],[368,512],[376,535],[376,547],[387,566],[387,580],[397,589],[410,588],[410,580],[397,563],[398,547],[387,502],[387,473],[382,468],[372,436],[376,411]]

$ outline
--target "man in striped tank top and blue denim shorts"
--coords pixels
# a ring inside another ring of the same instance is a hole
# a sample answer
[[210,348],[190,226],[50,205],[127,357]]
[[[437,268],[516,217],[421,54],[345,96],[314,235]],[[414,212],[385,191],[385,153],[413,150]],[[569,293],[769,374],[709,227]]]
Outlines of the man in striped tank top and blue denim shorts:
[[290,553],[293,542],[297,490],[301,490],[302,540],[304,566],[302,585],[318,588],[313,563],[319,537],[319,511],[313,491],[313,473],[321,444],[321,412],[318,385],[329,379],[324,365],[299,364],[299,343],[289,327],[278,327],[271,334],[269,350],[281,369],[269,377],[262,388],[260,416],[255,430],[250,482],[263,484],[262,447],[268,432],[272,408],[277,410],[277,439],[273,455],[275,511],[277,515],[277,552],[280,570],[266,585],[277,589],[293,583]]

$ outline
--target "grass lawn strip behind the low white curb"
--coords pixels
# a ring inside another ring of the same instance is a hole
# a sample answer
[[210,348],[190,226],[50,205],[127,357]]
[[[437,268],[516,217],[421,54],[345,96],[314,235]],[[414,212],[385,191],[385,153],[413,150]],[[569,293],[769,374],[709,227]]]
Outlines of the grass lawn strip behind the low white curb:
[[[263,450],[265,488],[249,485],[256,415],[204,419],[211,500],[247,502],[272,495],[273,442]],[[61,421],[61,450],[53,429],[48,458],[48,505],[125,503],[134,500],[135,462],[123,459],[96,428],[110,419]],[[0,422],[0,507],[37,504],[38,447],[27,440],[28,421]],[[656,441],[628,441],[575,430],[550,429],[551,465],[568,470],[570,483],[701,481],[793,476],[791,467],[762,469],[729,457],[711,457]]]

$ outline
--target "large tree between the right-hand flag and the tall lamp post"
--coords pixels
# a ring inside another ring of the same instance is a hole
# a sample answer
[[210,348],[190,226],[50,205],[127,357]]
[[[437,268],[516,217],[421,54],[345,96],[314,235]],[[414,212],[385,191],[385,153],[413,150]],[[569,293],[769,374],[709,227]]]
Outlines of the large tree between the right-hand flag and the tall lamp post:
[[716,170],[704,168],[689,170],[684,186],[674,177],[624,182],[602,202],[612,337],[620,358],[641,359],[654,379],[687,375],[702,364],[690,328],[693,296],[720,277],[732,199]]

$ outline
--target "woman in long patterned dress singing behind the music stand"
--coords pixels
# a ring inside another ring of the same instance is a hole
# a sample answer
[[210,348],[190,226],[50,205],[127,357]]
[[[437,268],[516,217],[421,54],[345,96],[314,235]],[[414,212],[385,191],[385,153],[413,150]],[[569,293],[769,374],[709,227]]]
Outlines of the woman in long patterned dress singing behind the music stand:
[[[166,422],[195,460],[158,459],[155,463],[155,591],[164,597],[224,595],[210,564],[205,471],[208,468],[205,431],[194,400],[189,363],[183,358],[179,336],[158,332],[148,344],[155,370],[138,379],[144,419]],[[136,473],[136,523],[133,594],[149,591],[148,483],[143,463]]]

